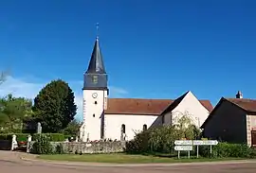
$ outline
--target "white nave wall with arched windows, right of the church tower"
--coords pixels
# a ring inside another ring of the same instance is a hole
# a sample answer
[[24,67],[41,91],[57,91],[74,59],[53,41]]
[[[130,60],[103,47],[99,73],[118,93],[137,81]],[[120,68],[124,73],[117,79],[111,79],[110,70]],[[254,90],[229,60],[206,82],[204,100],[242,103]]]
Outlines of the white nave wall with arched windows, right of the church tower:
[[143,130],[143,125],[147,128],[155,122],[155,115],[132,115],[132,114],[106,114],[105,115],[105,138],[120,140],[121,125],[125,125],[125,140],[132,140],[136,132]]

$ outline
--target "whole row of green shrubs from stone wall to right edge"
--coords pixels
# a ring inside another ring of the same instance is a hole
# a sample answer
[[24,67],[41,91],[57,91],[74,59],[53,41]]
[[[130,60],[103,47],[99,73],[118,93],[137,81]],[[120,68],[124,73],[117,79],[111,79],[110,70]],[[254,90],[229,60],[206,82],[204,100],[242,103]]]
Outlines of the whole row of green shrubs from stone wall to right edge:
[[[142,131],[137,133],[134,140],[126,143],[125,151],[137,154],[168,154],[170,157],[176,157],[177,151],[174,150],[174,141],[182,139],[184,137],[182,136],[183,134],[187,137],[187,133],[188,131],[182,132],[172,127]],[[191,135],[194,138],[189,139],[195,139],[196,134],[194,134]],[[187,152],[181,152],[181,154],[187,154]],[[212,146],[211,154],[210,146],[200,146],[199,154],[201,157],[213,158],[252,158],[256,157],[256,150],[247,147],[246,144],[219,143],[217,146]],[[196,147],[191,151],[191,155],[196,155]]]

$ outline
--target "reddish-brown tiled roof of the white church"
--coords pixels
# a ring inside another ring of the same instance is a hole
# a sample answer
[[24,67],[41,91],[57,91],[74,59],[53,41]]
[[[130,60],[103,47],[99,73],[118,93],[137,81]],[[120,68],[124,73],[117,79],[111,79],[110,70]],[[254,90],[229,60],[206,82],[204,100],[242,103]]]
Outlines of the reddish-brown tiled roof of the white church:
[[[200,102],[209,111],[212,110],[209,100],[200,100]],[[173,103],[176,104],[175,100],[172,99],[108,98],[105,113],[160,115]]]

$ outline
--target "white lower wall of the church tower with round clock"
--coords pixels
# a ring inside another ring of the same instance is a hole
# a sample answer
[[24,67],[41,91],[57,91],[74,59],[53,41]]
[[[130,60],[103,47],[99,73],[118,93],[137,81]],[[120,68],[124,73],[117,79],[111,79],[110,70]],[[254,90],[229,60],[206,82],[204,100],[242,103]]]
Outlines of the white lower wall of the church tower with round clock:
[[[93,97],[93,95],[97,97]],[[107,91],[83,90],[83,125],[81,129],[82,141],[101,139],[101,114],[107,99]],[[97,102],[97,104],[95,104]],[[82,133],[83,132],[83,133]]]

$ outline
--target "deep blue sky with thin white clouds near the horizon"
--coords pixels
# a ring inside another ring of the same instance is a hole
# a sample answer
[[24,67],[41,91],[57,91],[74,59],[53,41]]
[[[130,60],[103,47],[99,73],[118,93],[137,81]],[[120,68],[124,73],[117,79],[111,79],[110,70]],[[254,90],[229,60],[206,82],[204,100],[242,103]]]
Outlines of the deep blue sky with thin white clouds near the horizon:
[[192,91],[215,105],[256,98],[254,0],[8,0],[0,2],[0,95],[33,98],[64,79],[82,117],[82,78],[99,23],[110,97]]

